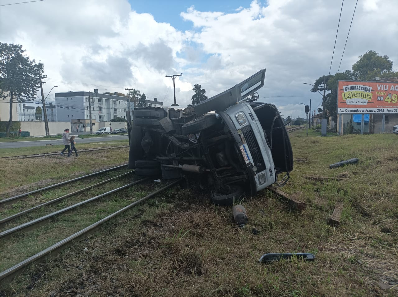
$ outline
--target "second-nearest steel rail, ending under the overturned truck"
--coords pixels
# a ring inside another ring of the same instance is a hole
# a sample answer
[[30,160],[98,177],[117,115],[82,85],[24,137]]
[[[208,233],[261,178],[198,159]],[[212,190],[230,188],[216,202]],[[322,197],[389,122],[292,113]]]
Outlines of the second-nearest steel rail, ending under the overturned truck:
[[137,183],[141,183],[142,181],[148,180],[148,178],[149,178],[149,177],[145,177],[145,178],[143,178],[143,179],[139,179],[138,181],[133,181],[132,183],[128,183],[127,185],[118,187],[118,188],[113,189],[113,190],[111,190],[111,191],[102,193],[102,194],[100,194],[100,195],[94,196],[94,197],[92,197],[92,198],[86,199],[86,200],[84,200],[84,201],[81,201],[81,202],[78,202],[78,203],[76,203],[76,204],[73,204],[73,205],[70,205],[70,206],[68,206],[68,207],[65,207],[65,208],[62,208],[62,209],[60,209],[60,210],[57,210],[56,212],[52,212],[51,214],[46,214],[45,216],[42,216],[42,217],[37,218],[37,219],[35,219],[35,220],[26,222],[26,223],[24,223],[24,224],[21,224],[21,225],[19,225],[19,226],[14,227],[14,228],[8,229],[8,230],[3,231],[3,232],[0,232],[0,239],[9,239],[13,233],[18,232],[18,231],[21,231],[21,230],[26,230],[26,229],[28,229],[28,230],[33,230],[33,229],[35,229],[35,228],[33,228],[33,226],[35,226],[35,225],[37,225],[37,224],[39,224],[39,223],[43,223],[43,222],[49,220],[50,218],[53,218],[54,216],[57,216],[57,215],[59,215],[59,214],[63,214],[63,213],[65,213],[65,212],[68,212],[68,211],[70,211],[70,210],[73,210],[74,208],[77,208],[77,207],[82,206],[82,205],[84,205],[84,204],[87,204],[87,203],[96,201],[96,200],[98,200],[98,199],[100,199],[100,198],[102,198],[102,197],[111,195],[111,194],[113,194],[113,193],[116,193],[116,192],[121,191],[121,190],[123,190],[123,189],[126,189],[126,188],[128,188],[128,187],[131,187],[132,185],[135,185],[135,184],[137,184]]

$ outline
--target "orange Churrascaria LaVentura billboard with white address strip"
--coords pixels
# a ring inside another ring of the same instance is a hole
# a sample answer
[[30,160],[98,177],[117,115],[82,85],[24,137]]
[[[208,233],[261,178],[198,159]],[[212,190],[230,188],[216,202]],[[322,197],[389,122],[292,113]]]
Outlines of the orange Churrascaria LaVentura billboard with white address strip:
[[398,114],[398,83],[338,81],[338,114]]

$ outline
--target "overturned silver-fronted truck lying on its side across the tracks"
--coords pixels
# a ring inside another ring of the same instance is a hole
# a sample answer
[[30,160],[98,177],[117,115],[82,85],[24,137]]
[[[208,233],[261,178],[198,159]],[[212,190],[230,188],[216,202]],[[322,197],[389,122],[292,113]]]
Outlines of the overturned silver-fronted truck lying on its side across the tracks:
[[265,69],[184,110],[135,109],[129,168],[163,179],[201,177],[219,205],[232,204],[244,191],[255,195],[284,172],[279,185],[285,185],[293,170],[285,125],[275,105],[254,102],[264,78]]

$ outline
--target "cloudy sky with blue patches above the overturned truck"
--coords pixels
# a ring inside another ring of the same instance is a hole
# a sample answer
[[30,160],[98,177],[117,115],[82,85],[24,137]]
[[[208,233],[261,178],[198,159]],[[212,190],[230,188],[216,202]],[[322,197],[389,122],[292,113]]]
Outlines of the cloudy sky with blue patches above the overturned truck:
[[[263,102],[305,117],[310,93],[329,73],[341,1],[330,0],[0,0],[0,41],[41,60],[45,93],[139,89],[171,105],[191,102],[199,83],[213,96],[266,68]],[[356,0],[345,0],[330,73],[338,71]],[[398,1],[359,0],[340,71],[368,50],[398,68]],[[49,100],[47,99],[47,100]]]

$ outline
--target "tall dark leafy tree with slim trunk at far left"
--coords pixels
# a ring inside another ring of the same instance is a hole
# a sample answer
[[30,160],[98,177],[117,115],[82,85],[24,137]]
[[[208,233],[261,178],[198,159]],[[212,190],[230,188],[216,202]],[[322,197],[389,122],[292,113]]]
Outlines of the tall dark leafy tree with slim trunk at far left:
[[12,104],[34,100],[39,88],[39,77],[43,75],[43,64],[35,64],[29,56],[23,55],[22,46],[14,43],[0,42],[0,98],[6,100],[10,96],[10,118],[6,134],[10,134],[12,125]]

